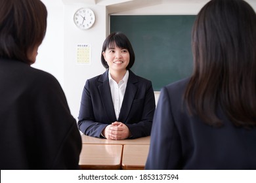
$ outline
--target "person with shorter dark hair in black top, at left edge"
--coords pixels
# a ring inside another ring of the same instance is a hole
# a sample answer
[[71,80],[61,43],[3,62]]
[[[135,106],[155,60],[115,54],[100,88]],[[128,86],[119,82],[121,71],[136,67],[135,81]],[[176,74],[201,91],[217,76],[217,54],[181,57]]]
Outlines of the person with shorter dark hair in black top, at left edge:
[[81,135],[53,75],[34,69],[39,0],[0,0],[0,169],[79,169]]

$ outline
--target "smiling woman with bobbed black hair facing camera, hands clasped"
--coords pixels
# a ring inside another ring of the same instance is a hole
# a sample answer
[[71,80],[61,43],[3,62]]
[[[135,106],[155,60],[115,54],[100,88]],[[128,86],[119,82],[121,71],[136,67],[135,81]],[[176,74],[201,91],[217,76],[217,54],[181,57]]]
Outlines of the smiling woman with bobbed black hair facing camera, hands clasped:
[[83,88],[80,131],[114,140],[149,136],[156,108],[152,82],[130,70],[135,53],[123,33],[106,38],[101,62],[106,71],[87,80]]

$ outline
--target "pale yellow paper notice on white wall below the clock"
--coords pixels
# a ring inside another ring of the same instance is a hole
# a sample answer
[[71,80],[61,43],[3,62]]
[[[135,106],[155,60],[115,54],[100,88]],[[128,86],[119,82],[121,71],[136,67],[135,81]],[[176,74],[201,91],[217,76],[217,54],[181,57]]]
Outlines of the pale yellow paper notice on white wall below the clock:
[[91,64],[91,45],[77,44],[77,63]]

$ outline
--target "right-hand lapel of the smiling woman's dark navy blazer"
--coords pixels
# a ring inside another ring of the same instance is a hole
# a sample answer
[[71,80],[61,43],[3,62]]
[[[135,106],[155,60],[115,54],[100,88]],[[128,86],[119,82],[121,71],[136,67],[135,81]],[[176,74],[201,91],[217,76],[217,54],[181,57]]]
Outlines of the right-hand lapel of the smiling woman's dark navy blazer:
[[123,103],[121,106],[118,122],[123,122],[127,120],[130,110],[131,110],[131,105],[133,104],[133,101],[135,99],[135,95],[137,93],[137,86],[135,86],[135,83],[138,82],[137,76],[129,70],[129,78],[127,81],[127,86],[125,90],[125,95],[123,97]]

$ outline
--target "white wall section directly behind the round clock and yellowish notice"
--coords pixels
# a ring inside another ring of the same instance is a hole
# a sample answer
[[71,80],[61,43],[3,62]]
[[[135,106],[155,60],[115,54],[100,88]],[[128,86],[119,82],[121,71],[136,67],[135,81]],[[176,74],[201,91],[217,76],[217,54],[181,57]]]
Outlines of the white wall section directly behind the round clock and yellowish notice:
[[[95,12],[95,24],[91,29],[81,30],[74,24],[74,12],[81,7]],[[100,61],[102,43],[106,39],[106,7],[66,4],[64,20],[64,90],[71,112],[77,119],[85,81],[106,71]],[[80,43],[91,44],[91,65],[76,63],[76,46]]]

